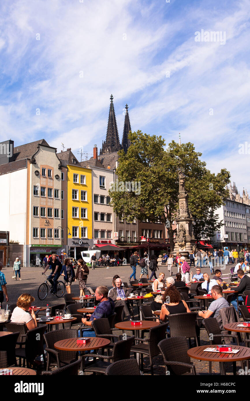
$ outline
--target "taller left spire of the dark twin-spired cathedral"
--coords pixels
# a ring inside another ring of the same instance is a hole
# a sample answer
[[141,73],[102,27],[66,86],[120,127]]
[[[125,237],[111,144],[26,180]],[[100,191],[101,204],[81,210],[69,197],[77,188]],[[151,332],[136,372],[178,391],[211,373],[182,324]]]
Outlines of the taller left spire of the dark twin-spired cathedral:
[[113,99],[114,96],[111,94],[106,141],[104,141],[102,145],[102,150],[100,154],[118,152],[118,150],[121,149],[117,124],[116,124],[116,115],[114,111]]

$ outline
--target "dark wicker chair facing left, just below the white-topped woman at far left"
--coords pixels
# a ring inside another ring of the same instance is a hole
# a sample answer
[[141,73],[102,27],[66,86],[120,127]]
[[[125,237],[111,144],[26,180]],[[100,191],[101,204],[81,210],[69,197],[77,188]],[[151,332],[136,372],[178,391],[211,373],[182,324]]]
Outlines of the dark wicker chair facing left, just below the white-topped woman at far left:
[[46,330],[47,326],[46,324],[43,324],[27,331],[25,348],[16,348],[16,356],[19,358],[19,366],[21,366],[21,360],[23,359],[23,367],[25,366],[26,360],[28,368],[30,363],[33,363],[35,358],[39,355],[43,355],[45,365],[46,359],[43,349],[43,334]]

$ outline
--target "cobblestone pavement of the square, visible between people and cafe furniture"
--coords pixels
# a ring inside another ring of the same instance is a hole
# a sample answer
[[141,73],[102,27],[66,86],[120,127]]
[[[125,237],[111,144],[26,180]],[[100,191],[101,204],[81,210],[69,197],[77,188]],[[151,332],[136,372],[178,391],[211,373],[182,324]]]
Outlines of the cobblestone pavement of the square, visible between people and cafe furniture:
[[[222,274],[226,274],[229,272],[230,267],[233,265],[226,266],[226,269],[222,269]],[[139,278],[140,275],[140,267],[136,269],[136,278]],[[162,271],[165,273],[165,277],[169,276],[169,272],[167,271],[167,267],[165,265],[159,266],[158,273]],[[195,269],[192,266],[192,271],[196,273]],[[35,304],[37,306],[46,306],[49,305],[56,305],[61,302],[60,298],[52,296],[48,294],[47,298],[44,301],[40,301],[37,296],[37,290],[39,285],[44,281],[45,277],[42,275],[43,269],[39,267],[22,267],[21,269],[21,281],[17,279],[11,279],[12,277],[12,267],[3,267],[2,272],[5,274],[6,282],[7,282],[7,290],[9,296],[8,304],[15,303],[18,296],[24,292],[30,293],[35,298]],[[210,270],[208,267],[202,267],[202,273],[209,273]],[[47,271],[48,273],[48,271]],[[177,273],[177,267],[173,269],[173,277],[175,278],[175,274]],[[112,287],[112,278],[115,274],[120,275],[124,282],[128,282],[128,276],[132,274],[132,268],[129,265],[122,266],[122,267],[110,267],[106,269],[106,267],[98,267],[94,270],[90,269],[89,276],[87,279],[87,286],[96,288],[98,285],[106,285],[108,288]],[[211,275],[210,275],[211,277]],[[61,278],[62,279],[62,276]],[[71,286],[71,292],[75,294],[75,296],[79,295],[79,286],[78,282],[73,283]],[[6,308],[6,302],[3,303],[3,306]],[[135,308],[136,311],[136,308]],[[136,312],[137,313],[137,312]],[[137,315],[138,316],[138,315]],[[135,315],[136,317],[136,315]],[[65,325],[66,328],[66,325]],[[122,334],[122,331],[117,331],[116,334]],[[131,332],[127,332],[128,335]],[[146,334],[145,334],[146,338]],[[201,330],[201,345],[209,345],[207,332],[205,330]],[[197,373],[201,375],[208,375],[208,368],[209,363],[206,361],[199,362],[198,360],[192,360],[195,365]],[[241,368],[240,363],[237,363],[237,370]],[[232,364],[227,364],[226,366],[227,374],[232,374]],[[212,363],[212,372],[213,374],[220,375],[220,369],[218,363]],[[149,366],[149,359],[144,358],[144,374],[150,375],[150,366]],[[155,375],[165,375],[165,367],[163,364],[163,359],[161,356],[157,356],[154,358],[154,374]]]

